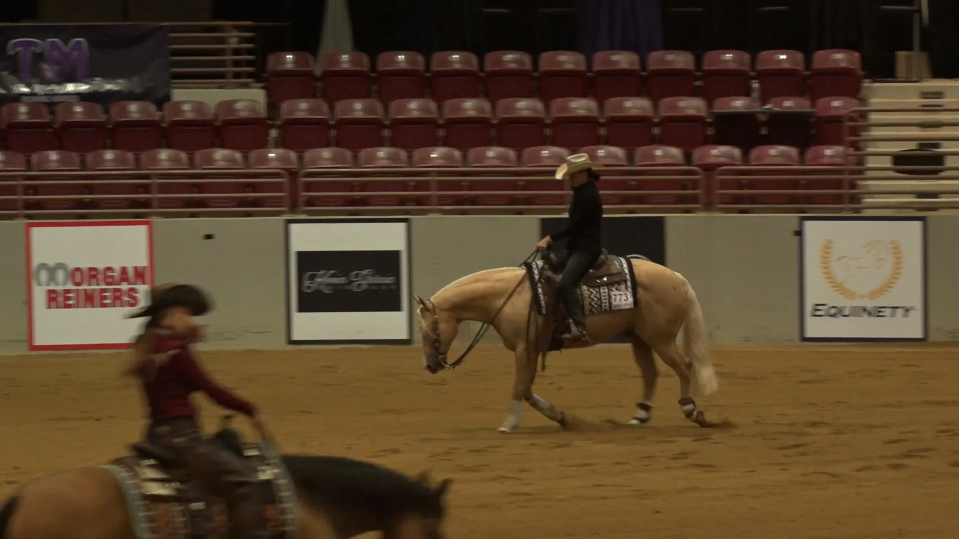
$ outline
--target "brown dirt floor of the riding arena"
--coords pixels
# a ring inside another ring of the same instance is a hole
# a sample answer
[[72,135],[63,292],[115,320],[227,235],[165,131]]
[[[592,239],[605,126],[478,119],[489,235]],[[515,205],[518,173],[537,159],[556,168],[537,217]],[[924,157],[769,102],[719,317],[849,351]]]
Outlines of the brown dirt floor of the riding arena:
[[[141,411],[124,358],[0,357],[0,495],[126,451]],[[499,347],[436,376],[409,347],[202,358],[285,451],[454,478],[453,539],[957,536],[959,347],[717,349],[721,387],[699,405],[728,430],[688,423],[664,366],[653,421],[625,428],[641,390],[628,349],[568,352],[535,388],[575,428],[527,407],[517,434],[496,432],[512,380]]]

